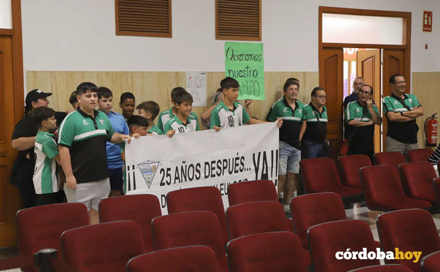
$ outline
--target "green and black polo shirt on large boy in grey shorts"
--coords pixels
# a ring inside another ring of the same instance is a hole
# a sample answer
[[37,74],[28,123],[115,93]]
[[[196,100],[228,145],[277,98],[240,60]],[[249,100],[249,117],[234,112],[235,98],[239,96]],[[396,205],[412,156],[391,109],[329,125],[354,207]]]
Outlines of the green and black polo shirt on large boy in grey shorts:
[[80,108],[67,115],[58,133],[58,145],[70,149],[73,175],[77,183],[108,178],[106,142],[115,131],[102,111],[93,116]]

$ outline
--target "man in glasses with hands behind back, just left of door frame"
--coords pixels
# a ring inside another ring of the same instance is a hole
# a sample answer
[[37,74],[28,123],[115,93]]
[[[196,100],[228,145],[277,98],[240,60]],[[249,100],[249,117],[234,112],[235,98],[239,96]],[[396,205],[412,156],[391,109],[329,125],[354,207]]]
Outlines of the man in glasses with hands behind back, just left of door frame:
[[[324,141],[327,136],[327,95],[322,87],[311,91],[311,102],[304,106],[306,132],[301,141],[302,159],[327,157]],[[318,121],[319,119],[319,121]]]

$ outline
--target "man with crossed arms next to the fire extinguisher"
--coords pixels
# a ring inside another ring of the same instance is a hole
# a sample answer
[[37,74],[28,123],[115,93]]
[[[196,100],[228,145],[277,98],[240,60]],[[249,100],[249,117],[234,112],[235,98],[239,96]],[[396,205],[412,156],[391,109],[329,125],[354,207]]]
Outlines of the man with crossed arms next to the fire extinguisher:
[[405,94],[405,78],[400,74],[390,77],[392,94],[384,97],[384,112],[388,119],[387,152],[397,151],[406,155],[419,148],[416,118],[423,115],[423,108],[414,94]]

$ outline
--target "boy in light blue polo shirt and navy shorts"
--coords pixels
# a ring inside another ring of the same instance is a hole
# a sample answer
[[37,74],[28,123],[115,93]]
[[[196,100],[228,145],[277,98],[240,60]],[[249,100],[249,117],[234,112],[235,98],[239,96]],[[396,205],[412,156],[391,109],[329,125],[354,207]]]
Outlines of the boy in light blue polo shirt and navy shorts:
[[[99,87],[97,94],[98,108],[107,115],[113,130],[117,133],[128,135],[130,132],[124,116],[112,111],[112,91],[106,87]],[[121,144],[107,142],[106,151],[108,176],[110,179],[111,189],[109,197],[122,195],[122,166],[124,165],[124,162],[121,158]]]

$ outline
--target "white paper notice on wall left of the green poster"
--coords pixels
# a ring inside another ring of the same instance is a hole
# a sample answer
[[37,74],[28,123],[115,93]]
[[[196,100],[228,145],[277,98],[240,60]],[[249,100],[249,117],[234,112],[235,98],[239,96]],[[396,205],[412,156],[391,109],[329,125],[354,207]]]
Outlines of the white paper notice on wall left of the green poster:
[[193,107],[206,107],[206,72],[186,72],[186,91],[192,95]]

